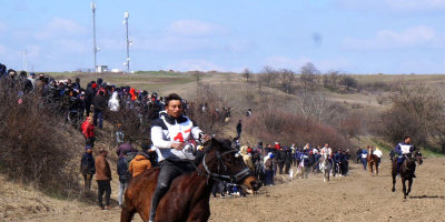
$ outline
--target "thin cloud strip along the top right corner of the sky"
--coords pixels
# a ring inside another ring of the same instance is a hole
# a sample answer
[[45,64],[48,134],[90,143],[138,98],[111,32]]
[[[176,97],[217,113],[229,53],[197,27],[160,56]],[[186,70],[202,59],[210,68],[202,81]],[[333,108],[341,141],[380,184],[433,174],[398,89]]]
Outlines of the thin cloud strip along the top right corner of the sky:
[[340,0],[340,7],[354,10],[428,12],[445,10],[444,0]]

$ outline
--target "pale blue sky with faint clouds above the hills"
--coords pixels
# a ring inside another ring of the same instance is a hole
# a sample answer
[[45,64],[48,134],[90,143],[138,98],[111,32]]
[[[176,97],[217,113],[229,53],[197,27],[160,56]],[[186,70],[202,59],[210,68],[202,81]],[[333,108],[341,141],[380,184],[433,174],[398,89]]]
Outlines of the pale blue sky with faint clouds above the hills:
[[[93,69],[92,0],[2,0],[0,63]],[[131,71],[445,73],[445,0],[96,0],[97,64]]]

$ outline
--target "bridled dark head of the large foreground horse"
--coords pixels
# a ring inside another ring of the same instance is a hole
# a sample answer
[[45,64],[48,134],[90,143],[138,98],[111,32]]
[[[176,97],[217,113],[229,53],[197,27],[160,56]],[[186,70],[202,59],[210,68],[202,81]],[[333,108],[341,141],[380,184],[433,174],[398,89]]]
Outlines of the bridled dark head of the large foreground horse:
[[[230,141],[218,141],[215,138],[205,143],[206,154],[202,164],[210,176],[233,183],[244,183],[256,191],[261,183],[246,165],[238,150],[230,147]],[[206,155],[208,159],[206,160]],[[207,167],[206,167],[207,165]]]

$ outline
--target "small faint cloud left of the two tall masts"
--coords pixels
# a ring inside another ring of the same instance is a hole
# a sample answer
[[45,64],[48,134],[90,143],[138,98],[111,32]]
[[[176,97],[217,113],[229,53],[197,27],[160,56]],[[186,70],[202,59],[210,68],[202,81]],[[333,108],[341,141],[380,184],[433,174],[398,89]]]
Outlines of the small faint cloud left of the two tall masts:
[[40,31],[36,32],[36,39],[50,40],[61,37],[83,36],[87,29],[73,20],[53,18]]

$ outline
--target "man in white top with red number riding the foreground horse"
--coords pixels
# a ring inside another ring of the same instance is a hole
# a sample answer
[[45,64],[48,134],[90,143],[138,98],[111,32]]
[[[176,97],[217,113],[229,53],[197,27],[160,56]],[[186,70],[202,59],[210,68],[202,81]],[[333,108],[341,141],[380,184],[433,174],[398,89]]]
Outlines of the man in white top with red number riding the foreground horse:
[[155,221],[156,210],[161,198],[167,193],[175,178],[195,171],[195,159],[189,141],[208,140],[199,127],[182,115],[182,99],[171,93],[166,98],[166,110],[152,122],[151,142],[156,148],[160,172],[151,199],[149,222]]

